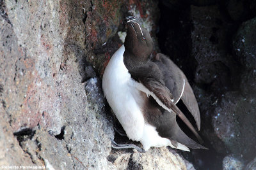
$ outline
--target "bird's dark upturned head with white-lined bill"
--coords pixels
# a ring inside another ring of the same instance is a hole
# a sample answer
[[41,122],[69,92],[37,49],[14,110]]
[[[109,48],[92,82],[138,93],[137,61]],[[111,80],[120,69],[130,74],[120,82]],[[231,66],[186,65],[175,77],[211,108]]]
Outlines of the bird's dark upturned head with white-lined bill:
[[146,61],[153,51],[153,40],[149,32],[140,26],[135,17],[126,17],[127,36],[125,52],[136,57],[138,61]]

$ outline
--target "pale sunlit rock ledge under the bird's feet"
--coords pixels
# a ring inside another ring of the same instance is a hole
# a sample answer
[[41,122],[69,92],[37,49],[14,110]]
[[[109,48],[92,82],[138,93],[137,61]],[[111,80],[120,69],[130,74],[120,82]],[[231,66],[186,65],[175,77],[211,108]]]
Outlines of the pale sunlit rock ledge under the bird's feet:
[[[122,153],[113,151],[109,161],[120,169],[195,169],[178,153],[166,147],[152,148],[146,153]],[[168,162],[168,164],[166,164]]]

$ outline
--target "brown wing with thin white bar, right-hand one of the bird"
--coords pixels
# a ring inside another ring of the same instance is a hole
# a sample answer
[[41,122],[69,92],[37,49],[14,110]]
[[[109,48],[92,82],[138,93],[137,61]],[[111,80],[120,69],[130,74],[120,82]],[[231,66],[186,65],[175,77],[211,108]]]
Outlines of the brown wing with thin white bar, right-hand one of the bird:
[[182,99],[182,102],[195,118],[198,130],[200,130],[200,111],[193,90],[191,89],[185,74],[172,62],[172,60],[162,53],[157,53],[154,62],[164,75],[164,83],[173,94],[174,103],[177,103],[180,98]]

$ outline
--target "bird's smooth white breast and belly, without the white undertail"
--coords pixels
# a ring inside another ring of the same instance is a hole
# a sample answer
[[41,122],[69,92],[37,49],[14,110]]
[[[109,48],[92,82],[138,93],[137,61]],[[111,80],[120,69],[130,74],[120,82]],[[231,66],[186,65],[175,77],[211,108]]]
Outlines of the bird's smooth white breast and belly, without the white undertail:
[[143,136],[144,118],[134,100],[138,90],[132,87],[131,74],[124,65],[124,45],[109,60],[102,78],[102,89],[127,136],[140,141]]

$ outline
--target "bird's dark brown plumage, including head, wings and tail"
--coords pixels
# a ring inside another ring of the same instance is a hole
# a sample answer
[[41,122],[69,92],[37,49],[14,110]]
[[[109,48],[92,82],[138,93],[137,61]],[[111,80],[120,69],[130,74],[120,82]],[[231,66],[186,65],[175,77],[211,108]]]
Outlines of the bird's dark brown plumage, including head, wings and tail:
[[153,50],[153,41],[147,30],[132,22],[127,23],[127,29],[124,43],[125,67],[134,80],[142,83],[170,110],[163,109],[154,97],[148,98],[144,93],[143,115],[145,120],[156,127],[159,136],[170,139],[173,145],[178,141],[190,148],[205,148],[186,136],[176,122],[176,115],[178,115],[202,143],[202,138],[193,125],[175,105],[179,99],[182,99],[200,130],[198,104],[186,76],[172,60],[162,53],[157,53],[153,61],[148,60]]

